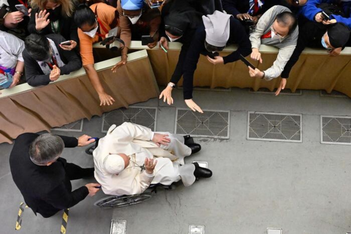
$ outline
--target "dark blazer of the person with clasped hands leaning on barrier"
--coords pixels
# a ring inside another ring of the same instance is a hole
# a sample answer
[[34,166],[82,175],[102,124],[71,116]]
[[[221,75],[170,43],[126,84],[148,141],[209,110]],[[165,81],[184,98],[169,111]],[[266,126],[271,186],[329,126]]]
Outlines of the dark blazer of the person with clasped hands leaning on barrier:
[[[65,66],[60,67],[60,75],[67,75],[72,71],[78,70],[82,67],[82,61],[73,50],[63,50],[59,46],[61,42],[66,41],[64,37],[59,34],[49,34],[46,35],[46,37],[55,42],[62,62],[66,64]],[[49,74],[44,75],[38,62],[28,54],[26,49],[23,50],[22,56],[24,59],[26,81],[29,85],[47,85],[51,82]]]

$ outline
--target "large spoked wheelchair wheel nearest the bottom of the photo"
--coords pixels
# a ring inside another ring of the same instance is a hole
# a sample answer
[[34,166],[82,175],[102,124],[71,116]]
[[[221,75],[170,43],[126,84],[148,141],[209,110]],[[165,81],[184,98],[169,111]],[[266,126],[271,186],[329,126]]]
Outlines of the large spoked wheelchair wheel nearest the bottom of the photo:
[[101,208],[116,208],[129,206],[146,201],[152,197],[151,193],[144,192],[135,195],[108,196],[94,203],[94,206]]

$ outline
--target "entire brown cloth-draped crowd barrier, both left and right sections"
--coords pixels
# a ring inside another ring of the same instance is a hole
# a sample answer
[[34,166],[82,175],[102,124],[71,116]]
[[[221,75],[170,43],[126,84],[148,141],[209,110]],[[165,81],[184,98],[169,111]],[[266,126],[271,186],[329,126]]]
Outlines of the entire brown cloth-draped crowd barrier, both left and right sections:
[[[147,49],[147,50],[145,50]],[[99,98],[94,91],[85,70],[82,68],[47,86],[31,87],[20,84],[12,89],[1,90],[0,94],[0,143],[11,143],[23,132],[50,130],[54,126],[90,119],[94,115],[122,106],[147,101],[157,97],[157,85],[166,85],[176,67],[181,44],[169,43],[168,53],[154,48],[148,49],[139,41],[132,41],[127,66],[111,72],[111,67],[120,61],[119,52],[107,50],[99,43],[94,45],[95,68],[108,94],[116,102],[111,106],[99,106]],[[236,50],[229,46],[221,56]],[[134,52],[133,52],[134,51]],[[278,49],[262,45],[260,47],[263,63],[251,63],[260,70],[269,68],[276,60]],[[303,51],[299,61],[290,73],[286,88],[340,91],[351,97],[351,48],[345,48],[339,56],[331,57],[324,49]],[[200,87],[239,87],[268,88],[274,90],[280,78],[265,81],[251,78],[248,68],[241,61],[213,65],[205,56],[200,56],[194,74],[194,86]],[[182,81],[178,83],[181,86]]]

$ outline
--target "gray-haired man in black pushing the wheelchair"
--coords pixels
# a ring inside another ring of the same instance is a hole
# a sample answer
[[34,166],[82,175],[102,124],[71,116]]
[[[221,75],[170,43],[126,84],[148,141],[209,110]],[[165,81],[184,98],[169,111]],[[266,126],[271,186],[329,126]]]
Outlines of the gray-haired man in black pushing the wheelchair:
[[99,191],[99,184],[86,184],[72,192],[70,180],[91,177],[94,168],[81,168],[60,158],[64,147],[86,146],[94,139],[24,133],[17,137],[10,154],[12,178],[35,215],[48,218],[76,205]]

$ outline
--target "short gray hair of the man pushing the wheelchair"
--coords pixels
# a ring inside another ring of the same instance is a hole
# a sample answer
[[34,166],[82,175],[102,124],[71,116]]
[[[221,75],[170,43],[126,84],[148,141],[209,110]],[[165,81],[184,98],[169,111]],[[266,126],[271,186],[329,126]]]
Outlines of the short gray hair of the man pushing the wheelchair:
[[35,138],[29,147],[29,156],[33,163],[46,165],[57,159],[64,150],[64,141],[59,136],[46,133]]

